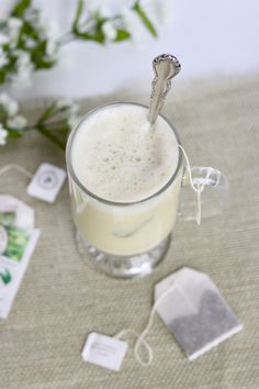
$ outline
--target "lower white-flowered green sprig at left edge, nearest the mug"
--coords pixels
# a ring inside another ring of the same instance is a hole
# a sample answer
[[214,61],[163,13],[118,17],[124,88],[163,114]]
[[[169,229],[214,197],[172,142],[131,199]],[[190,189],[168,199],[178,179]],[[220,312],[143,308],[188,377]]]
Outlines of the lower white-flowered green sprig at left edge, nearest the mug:
[[53,102],[31,124],[19,110],[16,100],[7,93],[0,95],[0,146],[5,145],[8,138],[23,136],[29,131],[37,131],[65,149],[68,134],[79,120],[79,105],[72,100],[63,99]]

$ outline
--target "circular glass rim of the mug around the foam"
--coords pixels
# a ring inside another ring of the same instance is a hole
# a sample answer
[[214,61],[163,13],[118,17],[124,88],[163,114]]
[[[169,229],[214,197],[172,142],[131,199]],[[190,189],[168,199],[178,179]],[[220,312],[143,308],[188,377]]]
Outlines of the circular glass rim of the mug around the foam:
[[[142,199],[142,200],[136,200],[136,201],[112,201],[112,200],[106,200],[106,199],[103,199],[101,198],[100,196],[91,192],[89,189],[86,188],[86,186],[79,180],[79,178],[77,177],[74,168],[72,168],[72,163],[71,163],[71,147],[72,147],[72,141],[75,138],[75,135],[77,133],[77,131],[79,130],[79,127],[81,126],[81,124],[85,122],[85,120],[92,115],[93,113],[98,112],[98,111],[101,111],[108,107],[113,107],[113,105],[138,105],[138,107],[143,107],[145,109],[149,109],[149,107],[145,105],[145,104],[140,104],[140,103],[136,103],[136,102],[123,102],[123,101],[115,101],[115,102],[111,102],[111,103],[105,103],[105,104],[102,104],[102,105],[99,105],[97,108],[93,108],[91,109],[89,112],[87,112],[82,118],[81,120],[77,123],[77,125],[75,126],[75,129],[70,132],[69,134],[69,137],[68,137],[68,141],[67,141],[67,145],[66,145],[66,163],[67,163],[67,170],[69,173],[69,175],[71,176],[72,180],[77,184],[77,186],[86,193],[88,194],[89,197],[104,203],[104,204],[108,204],[108,205],[116,205],[116,207],[127,207],[127,205],[136,205],[136,204],[139,204],[139,203],[143,203],[145,201],[148,201],[153,198],[156,198],[157,196],[161,194],[167,188],[169,188],[169,186],[174,181],[174,178],[177,177],[178,175],[178,171],[181,167],[181,164],[182,164],[182,151],[181,148],[179,147],[179,157],[178,157],[178,165],[177,165],[177,168],[176,170],[173,171],[173,175],[170,177],[170,179],[159,189],[157,190],[155,193]],[[169,120],[162,115],[162,114],[159,114],[159,116],[161,116],[170,126],[170,129],[172,130],[172,132],[174,133],[176,135],[176,138],[177,138],[177,142],[179,145],[181,145],[180,143],[180,138],[179,138],[179,135],[178,135],[178,132],[177,130],[174,129],[173,124],[169,122]]]

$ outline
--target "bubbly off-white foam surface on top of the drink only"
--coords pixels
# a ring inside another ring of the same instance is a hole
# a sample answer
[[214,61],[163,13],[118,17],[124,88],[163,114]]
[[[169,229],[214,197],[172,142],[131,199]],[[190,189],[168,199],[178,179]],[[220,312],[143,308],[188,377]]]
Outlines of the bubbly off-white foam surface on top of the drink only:
[[89,191],[105,200],[133,202],[170,180],[178,165],[178,141],[161,116],[149,129],[147,113],[139,105],[114,104],[80,124],[71,162]]

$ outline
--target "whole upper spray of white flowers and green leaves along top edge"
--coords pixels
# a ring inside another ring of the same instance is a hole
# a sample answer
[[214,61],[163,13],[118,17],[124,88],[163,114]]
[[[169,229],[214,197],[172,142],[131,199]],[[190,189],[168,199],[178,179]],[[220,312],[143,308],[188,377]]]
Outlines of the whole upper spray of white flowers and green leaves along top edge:
[[106,44],[133,40],[137,24],[157,36],[153,18],[146,11],[157,1],[137,0],[131,8],[113,14],[102,8],[86,11],[83,0],[78,0],[70,30],[57,37],[52,36],[52,29],[32,0],[20,0],[9,16],[0,21],[0,84],[29,85],[33,71],[54,67],[61,46],[71,41]]

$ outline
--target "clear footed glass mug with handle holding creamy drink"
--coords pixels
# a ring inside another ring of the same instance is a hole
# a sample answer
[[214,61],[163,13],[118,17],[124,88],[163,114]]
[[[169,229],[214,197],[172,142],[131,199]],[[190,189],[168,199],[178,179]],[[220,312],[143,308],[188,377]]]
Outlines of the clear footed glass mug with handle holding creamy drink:
[[[109,276],[132,278],[153,271],[166,256],[171,242],[171,233],[179,215],[179,199],[183,187],[190,188],[184,157],[179,149],[177,168],[169,181],[153,196],[134,202],[108,201],[90,192],[75,174],[71,149],[77,131],[88,118],[103,109],[116,105],[138,105],[136,103],[112,103],[99,107],[87,113],[70,133],[66,160],[71,197],[72,218],[76,225],[76,241],[79,253],[90,259],[98,269]],[[161,115],[162,116],[162,115]],[[178,143],[180,140],[173,125],[165,118],[173,131]],[[191,167],[192,182],[213,188],[218,198],[202,202],[203,215],[218,213],[227,192],[227,179],[218,170],[206,167]],[[190,193],[189,193],[190,194]],[[219,194],[219,196],[218,196]],[[181,218],[193,220],[193,196],[183,201]],[[215,201],[217,205],[215,207]]]

